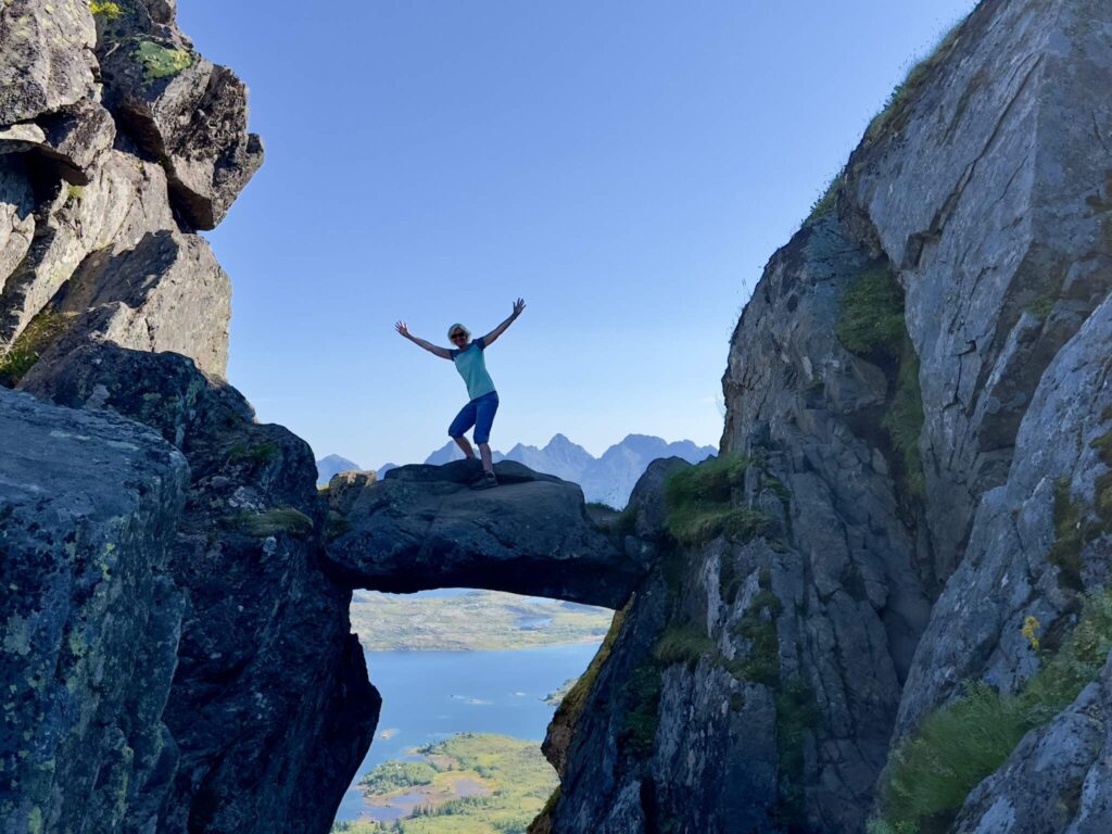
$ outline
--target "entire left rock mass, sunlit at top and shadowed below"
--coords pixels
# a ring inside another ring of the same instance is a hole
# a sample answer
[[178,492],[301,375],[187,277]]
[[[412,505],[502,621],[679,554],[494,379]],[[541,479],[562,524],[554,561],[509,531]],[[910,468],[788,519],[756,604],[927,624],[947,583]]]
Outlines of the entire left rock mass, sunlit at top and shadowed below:
[[4,830],[325,831],[377,721],[309,449],[220,381],[262,150],[173,14],[0,4],[0,385],[81,409],[3,395]]

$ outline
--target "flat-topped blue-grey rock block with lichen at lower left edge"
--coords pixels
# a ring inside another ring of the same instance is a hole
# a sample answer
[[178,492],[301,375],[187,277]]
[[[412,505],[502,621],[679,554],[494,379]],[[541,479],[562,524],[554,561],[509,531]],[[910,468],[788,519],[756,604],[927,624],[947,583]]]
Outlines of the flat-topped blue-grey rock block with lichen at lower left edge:
[[0,828],[149,830],[188,467],[156,433],[0,388]]

